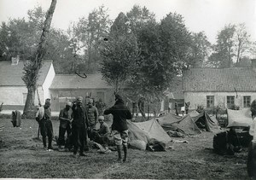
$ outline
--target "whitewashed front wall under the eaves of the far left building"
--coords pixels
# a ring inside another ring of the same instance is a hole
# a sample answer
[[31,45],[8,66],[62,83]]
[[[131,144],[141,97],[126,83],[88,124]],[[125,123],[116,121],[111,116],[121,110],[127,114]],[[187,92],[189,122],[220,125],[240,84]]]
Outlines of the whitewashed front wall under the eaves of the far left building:
[[[38,87],[38,94],[43,97],[42,87]],[[12,107],[19,107],[19,110],[23,110],[26,102],[27,89],[26,86],[2,86],[0,87],[0,103],[3,102],[5,110],[15,110]],[[35,105],[38,105],[38,95],[35,94]],[[10,109],[9,109],[10,108]]]

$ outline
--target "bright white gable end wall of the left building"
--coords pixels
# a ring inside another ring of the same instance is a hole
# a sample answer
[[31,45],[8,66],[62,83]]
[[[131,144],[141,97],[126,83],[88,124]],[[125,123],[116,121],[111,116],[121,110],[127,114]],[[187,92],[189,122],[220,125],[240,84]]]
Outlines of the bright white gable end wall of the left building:
[[42,87],[43,96],[40,96],[40,99],[42,99],[42,103],[44,104],[44,101],[46,98],[51,98],[50,92],[49,92],[49,86],[53,81],[53,78],[55,78],[55,69],[53,67],[53,64],[51,63],[49,67],[49,72],[44,80],[44,84]]

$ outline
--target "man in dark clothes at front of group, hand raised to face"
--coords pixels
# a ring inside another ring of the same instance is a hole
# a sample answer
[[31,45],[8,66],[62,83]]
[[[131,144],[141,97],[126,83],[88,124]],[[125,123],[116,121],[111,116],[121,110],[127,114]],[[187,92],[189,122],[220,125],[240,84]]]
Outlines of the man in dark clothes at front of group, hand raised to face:
[[84,142],[88,145],[87,127],[88,117],[85,108],[82,106],[83,97],[77,97],[77,101],[73,103],[73,121],[72,121],[72,136],[73,136],[73,155],[76,156],[80,147],[80,156],[84,154]]

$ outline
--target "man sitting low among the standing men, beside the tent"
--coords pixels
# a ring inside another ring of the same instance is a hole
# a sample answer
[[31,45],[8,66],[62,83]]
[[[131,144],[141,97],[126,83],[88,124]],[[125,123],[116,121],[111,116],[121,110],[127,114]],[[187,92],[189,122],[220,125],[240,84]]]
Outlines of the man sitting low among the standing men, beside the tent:
[[99,116],[100,129],[94,130],[93,140],[103,145],[104,148],[108,146],[108,138],[110,130],[107,123],[104,122],[104,116]]

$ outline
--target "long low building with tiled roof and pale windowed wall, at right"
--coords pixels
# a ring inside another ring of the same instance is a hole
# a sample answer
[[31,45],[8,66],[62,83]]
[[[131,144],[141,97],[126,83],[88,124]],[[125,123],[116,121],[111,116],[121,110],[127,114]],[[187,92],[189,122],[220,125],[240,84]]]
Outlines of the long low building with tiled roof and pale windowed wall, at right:
[[256,99],[256,59],[252,67],[190,68],[183,72],[184,101],[190,109],[249,107]]

